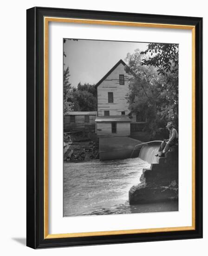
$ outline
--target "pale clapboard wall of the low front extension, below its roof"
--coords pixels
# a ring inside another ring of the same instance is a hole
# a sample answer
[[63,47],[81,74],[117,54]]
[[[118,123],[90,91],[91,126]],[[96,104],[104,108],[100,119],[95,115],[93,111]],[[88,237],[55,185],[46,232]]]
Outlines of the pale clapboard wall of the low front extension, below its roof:
[[[100,130],[99,130],[100,129]],[[97,122],[97,136],[115,137],[115,136],[129,136],[130,122],[117,122],[117,132],[112,133],[111,122]]]

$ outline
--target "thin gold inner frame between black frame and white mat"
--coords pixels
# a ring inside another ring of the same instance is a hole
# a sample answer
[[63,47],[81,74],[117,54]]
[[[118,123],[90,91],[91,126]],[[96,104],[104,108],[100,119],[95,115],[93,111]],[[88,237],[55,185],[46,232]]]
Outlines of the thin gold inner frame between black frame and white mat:
[[[192,225],[187,227],[170,227],[154,229],[128,229],[100,232],[49,234],[48,233],[48,25],[49,22],[85,23],[113,26],[153,27],[192,30]],[[126,22],[116,20],[88,20],[44,17],[44,238],[66,238],[84,236],[108,236],[121,234],[141,234],[154,232],[195,230],[195,26]]]

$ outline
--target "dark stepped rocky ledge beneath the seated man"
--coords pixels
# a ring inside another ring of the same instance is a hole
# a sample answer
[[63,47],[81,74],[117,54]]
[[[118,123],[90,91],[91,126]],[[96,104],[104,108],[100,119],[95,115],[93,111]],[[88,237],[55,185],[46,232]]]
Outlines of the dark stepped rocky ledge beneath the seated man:
[[143,169],[137,186],[129,191],[129,203],[140,204],[178,199],[178,147],[158,157],[150,169]]

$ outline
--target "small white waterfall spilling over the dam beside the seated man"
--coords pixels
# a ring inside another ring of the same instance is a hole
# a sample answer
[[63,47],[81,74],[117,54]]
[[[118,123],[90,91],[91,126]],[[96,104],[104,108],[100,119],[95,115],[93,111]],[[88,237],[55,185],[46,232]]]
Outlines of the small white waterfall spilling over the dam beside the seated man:
[[144,145],[139,153],[139,158],[148,163],[156,163],[157,157],[155,155],[158,154],[158,149],[160,145]]

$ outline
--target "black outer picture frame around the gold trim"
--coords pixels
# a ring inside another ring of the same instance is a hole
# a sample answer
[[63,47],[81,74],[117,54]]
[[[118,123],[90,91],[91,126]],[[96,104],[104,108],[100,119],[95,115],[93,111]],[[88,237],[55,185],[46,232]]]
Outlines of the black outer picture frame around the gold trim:
[[[195,230],[82,237],[44,237],[44,17],[195,26]],[[202,18],[33,7],[27,10],[26,245],[52,248],[202,238]]]

